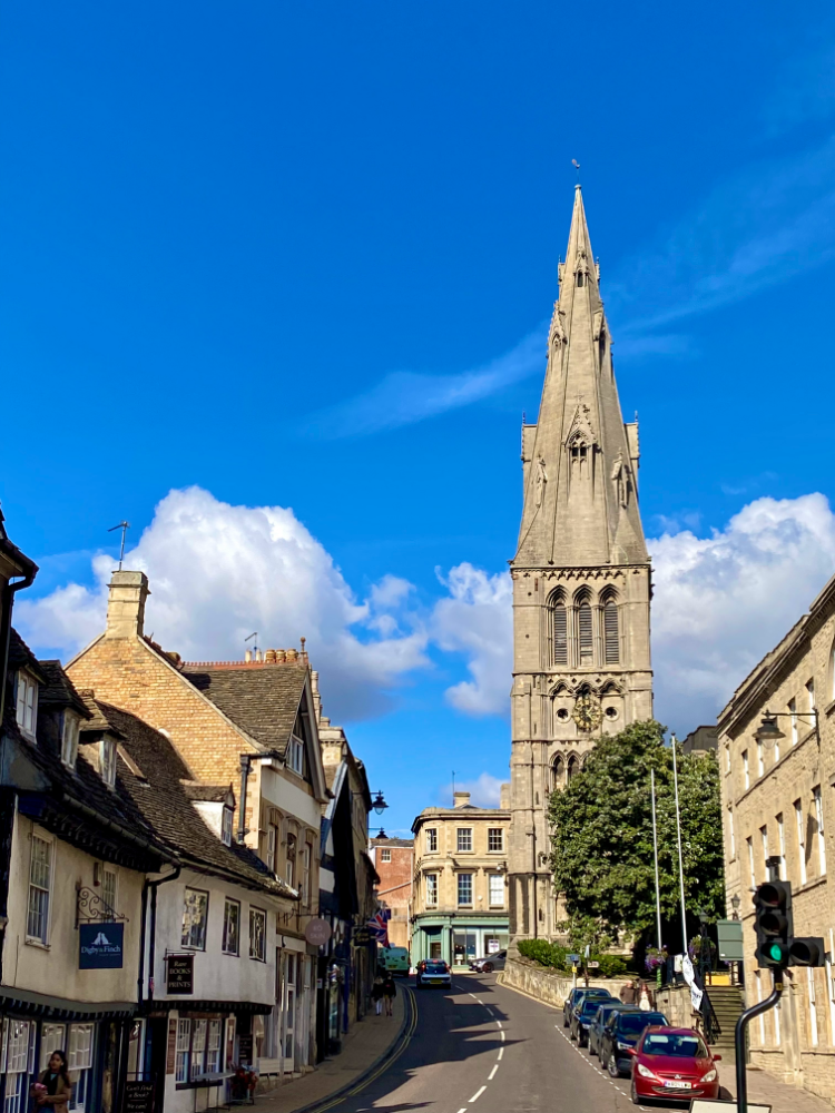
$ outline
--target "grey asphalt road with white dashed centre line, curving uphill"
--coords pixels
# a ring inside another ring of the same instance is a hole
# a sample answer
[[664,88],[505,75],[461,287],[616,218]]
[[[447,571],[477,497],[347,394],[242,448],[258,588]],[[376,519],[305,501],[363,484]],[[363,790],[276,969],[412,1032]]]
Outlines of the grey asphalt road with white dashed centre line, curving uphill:
[[[405,1048],[334,1113],[642,1109],[631,1102],[628,1078],[612,1082],[596,1058],[569,1043],[561,1011],[498,985],[494,974],[456,975],[451,993],[423,989],[414,996],[416,1025]],[[654,1106],[665,1107],[687,1105]]]

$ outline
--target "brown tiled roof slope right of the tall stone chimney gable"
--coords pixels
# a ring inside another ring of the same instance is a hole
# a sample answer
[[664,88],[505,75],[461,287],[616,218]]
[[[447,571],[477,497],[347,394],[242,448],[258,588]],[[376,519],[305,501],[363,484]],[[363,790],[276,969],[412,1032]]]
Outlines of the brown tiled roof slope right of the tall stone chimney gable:
[[256,742],[284,754],[307,678],[305,663],[242,662],[239,668],[185,663],[181,672]]

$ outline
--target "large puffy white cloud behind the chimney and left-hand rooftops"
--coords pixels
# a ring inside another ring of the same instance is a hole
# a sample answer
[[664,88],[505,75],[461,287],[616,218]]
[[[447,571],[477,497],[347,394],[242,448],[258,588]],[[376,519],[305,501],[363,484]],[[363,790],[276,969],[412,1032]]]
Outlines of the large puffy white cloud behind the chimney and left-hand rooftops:
[[[104,629],[110,556],[92,561],[96,587],[70,583],[20,600],[16,626],[33,646],[69,656]],[[232,506],[207,491],[171,491],[125,567],[147,572],[146,631],[188,660],[236,660],[258,631],[263,648],[298,646],[322,673],[325,710],[356,718],[426,666],[428,636],[394,577],[357,601],[333,558],[282,506]]]

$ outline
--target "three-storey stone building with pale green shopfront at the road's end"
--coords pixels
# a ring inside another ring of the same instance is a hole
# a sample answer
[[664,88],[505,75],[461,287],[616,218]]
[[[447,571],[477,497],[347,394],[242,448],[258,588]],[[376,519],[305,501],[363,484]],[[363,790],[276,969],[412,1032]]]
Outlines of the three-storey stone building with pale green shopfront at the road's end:
[[454,807],[424,808],[412,831],[412,962],[466,966],[505,949],[510,809],[477,808],[455,792]]

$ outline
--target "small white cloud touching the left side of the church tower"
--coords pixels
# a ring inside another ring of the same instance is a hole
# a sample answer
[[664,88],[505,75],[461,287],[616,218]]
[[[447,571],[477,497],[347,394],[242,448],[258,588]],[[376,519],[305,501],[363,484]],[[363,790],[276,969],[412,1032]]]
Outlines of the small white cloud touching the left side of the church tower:
[[510,575],[489,575],[464,563],[442,582],[450,598],[435,603],[432,637],[441,649],[464,653],[472,676],[448,688],[446,699],[468,715],[507,715],[513,661]]

